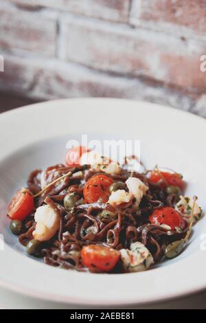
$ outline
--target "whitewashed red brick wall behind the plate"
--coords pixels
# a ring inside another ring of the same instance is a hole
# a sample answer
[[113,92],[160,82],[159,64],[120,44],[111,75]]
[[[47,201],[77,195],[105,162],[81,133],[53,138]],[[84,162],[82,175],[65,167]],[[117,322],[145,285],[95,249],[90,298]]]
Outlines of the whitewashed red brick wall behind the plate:
[[149,100],[206,117],[206,0],[1,0],[0,90]]

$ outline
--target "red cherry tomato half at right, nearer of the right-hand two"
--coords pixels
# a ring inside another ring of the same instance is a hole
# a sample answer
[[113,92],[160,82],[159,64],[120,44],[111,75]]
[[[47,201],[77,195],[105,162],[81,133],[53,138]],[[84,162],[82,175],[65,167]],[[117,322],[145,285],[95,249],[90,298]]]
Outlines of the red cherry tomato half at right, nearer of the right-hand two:
[[172,230],[175,230],[176,227],[184,229],[186,224],[181,214],[173,208],[169,207],[155,210],[150,215],[149,219],[150,222],[154,225],[170,225]]

